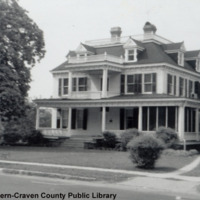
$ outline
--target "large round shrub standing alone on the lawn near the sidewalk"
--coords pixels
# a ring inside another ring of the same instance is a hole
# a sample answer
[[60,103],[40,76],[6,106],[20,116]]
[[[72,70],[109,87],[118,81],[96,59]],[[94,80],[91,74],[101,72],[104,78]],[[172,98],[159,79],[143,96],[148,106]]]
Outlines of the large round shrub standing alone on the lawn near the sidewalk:
[[152,169],[159,158],[164,146],[152,135],[141,135],[128,144],[130,158],[137,167]]

